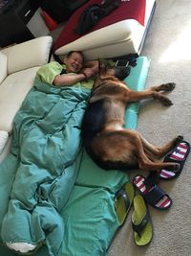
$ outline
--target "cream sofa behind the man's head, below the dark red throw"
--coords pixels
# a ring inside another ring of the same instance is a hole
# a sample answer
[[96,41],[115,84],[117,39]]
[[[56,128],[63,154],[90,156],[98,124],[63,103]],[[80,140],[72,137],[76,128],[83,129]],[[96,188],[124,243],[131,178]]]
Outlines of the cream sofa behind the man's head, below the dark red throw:
[[155,8],[156,0],[146,0],[144,26],[136,19],[125,19],[56,48],[54,55],[62,57],[74,49],[83,52],[86,59],[139,55]]

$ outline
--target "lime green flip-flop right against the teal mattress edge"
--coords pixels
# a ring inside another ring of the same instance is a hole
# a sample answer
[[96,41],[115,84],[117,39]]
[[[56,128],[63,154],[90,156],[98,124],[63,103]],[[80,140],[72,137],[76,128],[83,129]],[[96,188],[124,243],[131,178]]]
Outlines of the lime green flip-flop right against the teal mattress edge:
[[127,218],[129,210],[135,197],[135,188],[132,182],[125,183],[117,192],[115,198],[115,208],[119,225],[122,225]]

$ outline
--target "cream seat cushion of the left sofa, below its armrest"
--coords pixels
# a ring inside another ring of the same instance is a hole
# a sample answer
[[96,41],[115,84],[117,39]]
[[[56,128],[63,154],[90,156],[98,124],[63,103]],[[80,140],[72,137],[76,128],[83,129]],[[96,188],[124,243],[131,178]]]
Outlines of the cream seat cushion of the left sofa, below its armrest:
[[12,121],[32,88],[39,67],[15,72],[0,84],[0,129],[11,133]]

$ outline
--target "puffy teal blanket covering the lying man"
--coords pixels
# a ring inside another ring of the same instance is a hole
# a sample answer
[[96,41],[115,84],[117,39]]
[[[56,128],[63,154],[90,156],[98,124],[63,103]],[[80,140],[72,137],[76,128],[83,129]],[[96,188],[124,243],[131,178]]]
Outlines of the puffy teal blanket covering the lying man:
[[90,90],[35,81],[13,123],[11,153],[0,165],[1,242],[46,243],[64,237],[60,211],[81,161],[80,125]]

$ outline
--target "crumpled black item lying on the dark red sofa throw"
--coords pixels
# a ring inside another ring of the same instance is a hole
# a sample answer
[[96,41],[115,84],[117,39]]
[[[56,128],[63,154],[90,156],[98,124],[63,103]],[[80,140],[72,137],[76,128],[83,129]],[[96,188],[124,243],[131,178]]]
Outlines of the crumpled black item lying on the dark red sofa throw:
[[75,33],[84,34],[91,30],[96,23],[119,6],[118,0],[105,0],[100,5],[89,6],[79,17]]

